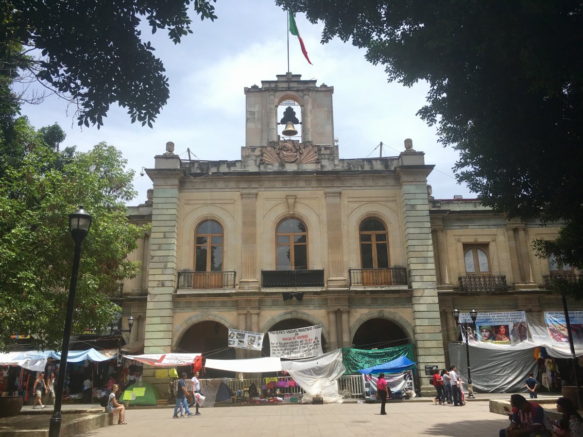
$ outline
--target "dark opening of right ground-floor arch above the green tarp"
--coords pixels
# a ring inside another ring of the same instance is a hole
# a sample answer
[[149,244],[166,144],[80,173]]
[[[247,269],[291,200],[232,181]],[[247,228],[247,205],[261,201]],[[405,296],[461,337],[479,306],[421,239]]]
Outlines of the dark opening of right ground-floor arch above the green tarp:
[[384,349],[412,343],[401,326],[387,319],[369,319],[359,326],[352,340],[357,349]]

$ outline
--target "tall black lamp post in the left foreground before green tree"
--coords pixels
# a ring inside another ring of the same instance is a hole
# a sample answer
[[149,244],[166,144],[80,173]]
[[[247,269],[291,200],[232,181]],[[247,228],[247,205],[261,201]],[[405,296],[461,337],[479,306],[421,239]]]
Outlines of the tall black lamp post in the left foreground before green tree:
[[57,390],[55,392],[55,409],[51,416],[48,428],[48,437],[59,437],[61,434],[61,403],[63,399],[63,387],[65,385],[65,370],[67,357],[69,355],[69,337],[71,337],[71,325],[73,322],[73,309],[75,309],[75,291],[77,289],[77,277],[79,274],[79,262],[81,259],[81,244],[91,226],[92,217],[79,207],[74,213],[69,215],[69,231],[73,241],[75,241],[75,254],[73,255],[73,270],[71,273],[71,285],[69,286],[69,300],[67,302],[67,312],[65,316],[65,330],[63,332],[63,347],[61,348],[61,366],[59,368],[59,378],[57,379]]

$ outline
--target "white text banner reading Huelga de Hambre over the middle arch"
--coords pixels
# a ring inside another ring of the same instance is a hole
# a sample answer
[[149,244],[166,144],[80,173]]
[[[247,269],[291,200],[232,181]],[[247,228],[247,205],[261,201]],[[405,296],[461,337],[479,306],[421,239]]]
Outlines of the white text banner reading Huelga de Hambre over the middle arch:
[[310,358],[322,355],[322,325],[270,331],[271,357]]

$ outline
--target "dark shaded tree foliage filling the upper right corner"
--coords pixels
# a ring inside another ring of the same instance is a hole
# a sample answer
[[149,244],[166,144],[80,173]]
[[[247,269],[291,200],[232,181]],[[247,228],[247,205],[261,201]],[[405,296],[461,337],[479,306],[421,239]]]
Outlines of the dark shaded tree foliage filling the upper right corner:
[[564,221],[540,255],[583,268],[581,1],[276,0],[366,48],[389,81],[426,80],[417,113],[459,151],[458,182],[522,220]]

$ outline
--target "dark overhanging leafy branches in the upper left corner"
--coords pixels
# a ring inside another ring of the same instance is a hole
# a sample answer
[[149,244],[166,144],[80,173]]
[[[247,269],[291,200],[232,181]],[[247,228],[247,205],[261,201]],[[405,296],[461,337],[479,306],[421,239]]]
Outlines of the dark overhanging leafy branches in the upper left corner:
[[[215,20],[216,0],[195,0],[201,19]],[[79,105],[79,125],[103,124],[111,104],[152,127],[168,99],[164,66],[143,41],[142,20],[166,29],[175,44],[189,33],[191,0],[5,0],[0,5],[0,47],[36,48],[34,74]],[[2,53],[0,52],[0,57]],[[1,74],[1,72],[0,72]],[[1,86],[1,83],[0,83]]]

